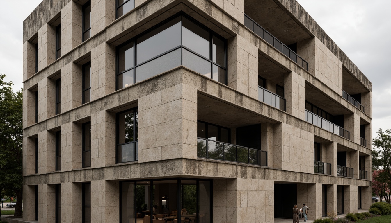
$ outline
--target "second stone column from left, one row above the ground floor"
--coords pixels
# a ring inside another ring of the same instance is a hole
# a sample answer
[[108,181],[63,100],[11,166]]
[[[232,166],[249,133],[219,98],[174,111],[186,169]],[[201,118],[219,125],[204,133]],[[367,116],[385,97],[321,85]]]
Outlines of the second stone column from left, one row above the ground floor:
[[52,131],[38,133],[38,173],[56,170],[56,134]]

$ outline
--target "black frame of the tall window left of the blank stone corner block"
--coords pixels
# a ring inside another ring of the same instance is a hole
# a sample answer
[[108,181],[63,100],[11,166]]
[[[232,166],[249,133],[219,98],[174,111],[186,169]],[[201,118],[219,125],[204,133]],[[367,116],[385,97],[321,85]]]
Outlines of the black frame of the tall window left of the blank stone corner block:
[[[127,142],[127,143],[119,143],[119,116],[120,116],[120,114],[125,113],[125,112],[129,112],[129,111],[133,111],[133,141]],[[134,107],[131,109],[127,109],[125,111],[118,112],[117,114],[115,114],[115,116],[116,116],[115,117],[115,163],[126,163],[126,162],[118,162],[119,161],[118,146],[130,144],[130,143],[133,143],[133,158],[134,159],[133,159],[133,161],[127,161],[127,162],[138,161],[138,151],[136,151],[136,143],[138,143],[138,123],[136,124],[136,121],[138,122],[138,120],[136,120],[136,118],[138,116],[138,107]],[[136,126],[137,126],[137,129],[136,129]],[[137,135],[137,140],[135,140],[136,135]],[[138,146],[137,146],[137,150],[138,150]]]

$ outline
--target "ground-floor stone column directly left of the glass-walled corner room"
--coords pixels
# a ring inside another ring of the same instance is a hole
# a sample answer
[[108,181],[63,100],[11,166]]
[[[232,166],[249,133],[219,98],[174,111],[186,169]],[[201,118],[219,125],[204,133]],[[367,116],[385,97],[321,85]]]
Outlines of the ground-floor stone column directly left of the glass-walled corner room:
[[91,181],[91,222],[119,222],[120,203],[117,199],[113,199],[118,197],[118,181]]

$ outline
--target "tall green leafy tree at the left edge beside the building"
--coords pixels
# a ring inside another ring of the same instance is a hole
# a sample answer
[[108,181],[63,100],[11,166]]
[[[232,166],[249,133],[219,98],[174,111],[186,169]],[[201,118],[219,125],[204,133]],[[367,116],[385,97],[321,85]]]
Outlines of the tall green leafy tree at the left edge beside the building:
[[12,82],[0,75],[0,189],[17,196],[14,216],[22,216],[22,90],[13,92]]

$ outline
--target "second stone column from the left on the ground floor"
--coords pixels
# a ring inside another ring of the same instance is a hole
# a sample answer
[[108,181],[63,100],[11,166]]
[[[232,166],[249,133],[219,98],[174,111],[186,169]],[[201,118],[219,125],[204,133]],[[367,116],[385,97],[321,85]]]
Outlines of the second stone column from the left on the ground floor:
[[56,221],[56,187],[54,184],[38,185],[38,221],[54,223]]

